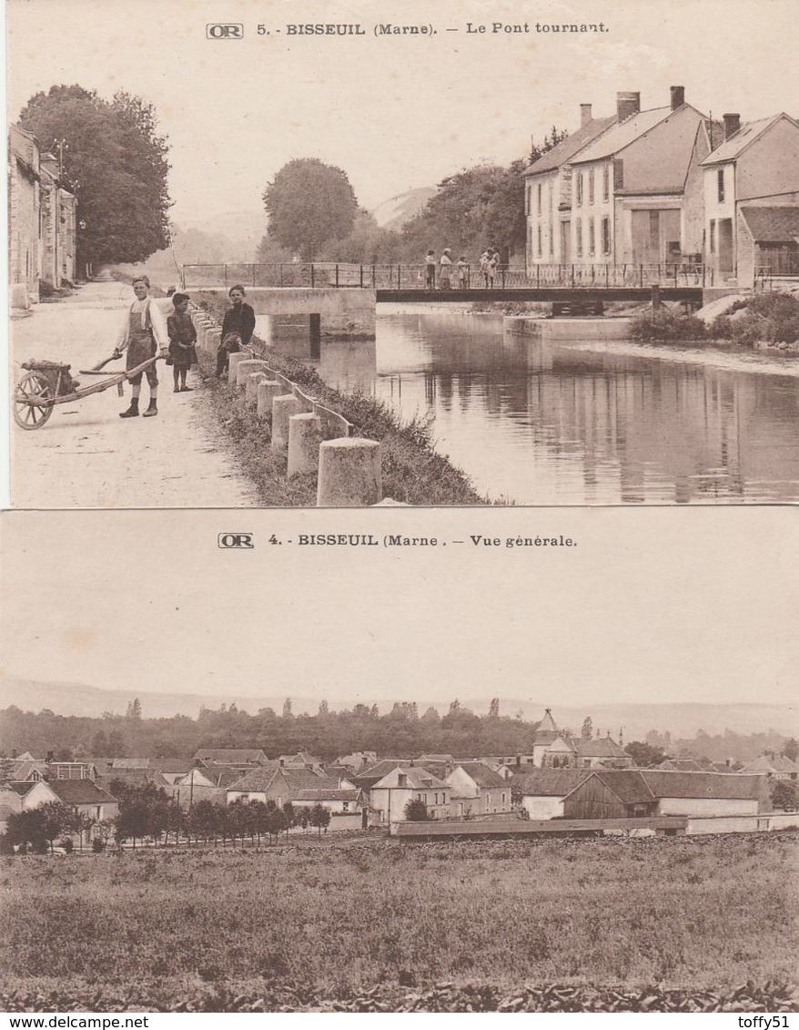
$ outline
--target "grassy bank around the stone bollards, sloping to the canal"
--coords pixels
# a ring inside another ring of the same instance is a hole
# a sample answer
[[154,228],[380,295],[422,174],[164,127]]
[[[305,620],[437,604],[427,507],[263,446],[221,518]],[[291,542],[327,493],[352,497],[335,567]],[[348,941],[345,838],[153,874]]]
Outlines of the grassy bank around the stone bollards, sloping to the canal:
[[[222,302],[205,305],[221,321]],[[287,376],[325,406],[342,414],[356,427],[356,436],[379,440],[382,445],[383,495],[410,505],[487,505],[468,477],[439,454],[430,425],[423,420],[408,424],[384,404],[364,394],[342,393],[333,389],[303,362],[275,354],[256,337],[253,349],[269,357],[270,366]],[[210,368],[205,369],[210,373]],[[227,432],[242,471],[257,486],[265,505],[314,505],[316,477],[306,482],[284,484],[285,459],[275,458],[270,450],[268,424],[246,408],[241,391],[227,383],[207,381],[212,409]]]

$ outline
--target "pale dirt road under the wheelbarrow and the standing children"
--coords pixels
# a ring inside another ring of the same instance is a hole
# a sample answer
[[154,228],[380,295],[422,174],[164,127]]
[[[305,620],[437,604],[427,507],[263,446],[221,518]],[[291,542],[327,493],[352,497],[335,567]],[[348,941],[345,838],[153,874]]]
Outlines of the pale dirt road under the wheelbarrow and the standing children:
[[[31,357],[67,362],[80,376],[110,356],[130,286],[92,282],[57,304],[39,304],[11,323],[11,381]],[[107,368],[121,369],[123,362]],[[128,407],[116,387],[58,405],[40,430],[11,425],[11,504],[14,508],[236,508],[255,505],[255,492],[236,470],[220,439],[199,417],[201,382],[173,393],[172,370],[159,362],[159,415],[120,419]],[[148,398],[142,386],[142,409]]]

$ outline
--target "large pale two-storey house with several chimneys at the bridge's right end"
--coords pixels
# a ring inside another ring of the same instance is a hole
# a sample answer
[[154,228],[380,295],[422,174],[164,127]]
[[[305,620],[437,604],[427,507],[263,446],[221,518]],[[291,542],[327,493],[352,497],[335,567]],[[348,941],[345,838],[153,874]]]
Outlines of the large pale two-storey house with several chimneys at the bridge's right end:
[[675,265],[700,252],[696,169],[711,141],[684,88],[671,87],[668,106],[641,111],[639,93],[619,93],[615,116],[581,112],[567,145],[524,172],[528,268]]

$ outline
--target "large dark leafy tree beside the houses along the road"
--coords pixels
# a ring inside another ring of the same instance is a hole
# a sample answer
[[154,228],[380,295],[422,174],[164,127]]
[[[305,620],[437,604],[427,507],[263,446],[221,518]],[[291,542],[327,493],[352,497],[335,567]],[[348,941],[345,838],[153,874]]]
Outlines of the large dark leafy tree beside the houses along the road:
[[155,110],[117,93],[109,103],[81,85],[37,93],[20,114],[42,149],[64,140],[63,184],[78,201],[78,261],[140,262],[168,243],[169,147]]

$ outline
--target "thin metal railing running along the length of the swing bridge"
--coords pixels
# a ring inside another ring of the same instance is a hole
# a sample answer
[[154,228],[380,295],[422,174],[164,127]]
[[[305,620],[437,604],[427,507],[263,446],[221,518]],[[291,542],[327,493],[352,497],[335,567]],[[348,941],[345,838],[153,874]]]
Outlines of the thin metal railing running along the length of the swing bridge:
[[[440,268],[437,267],[437,288],[441,288]],[[529,268],[499,266],[481,270],[470,266],[463,279],[453,266],[450,288],[468,289],[476,294],[485,289],[539,289],[562,286],[576,289],[613,288],[653,285],[711,286],[713,269],[705,265],[683,262],[661,264],[593,265],[532,265]],[[359,265],[349,262],[282,262],[272,264],[239,263],[219,265],[183,265],[183,289],[219,288],[242,285],[246,288],[305,287],[310,289],[424,289],[423,264]]]

